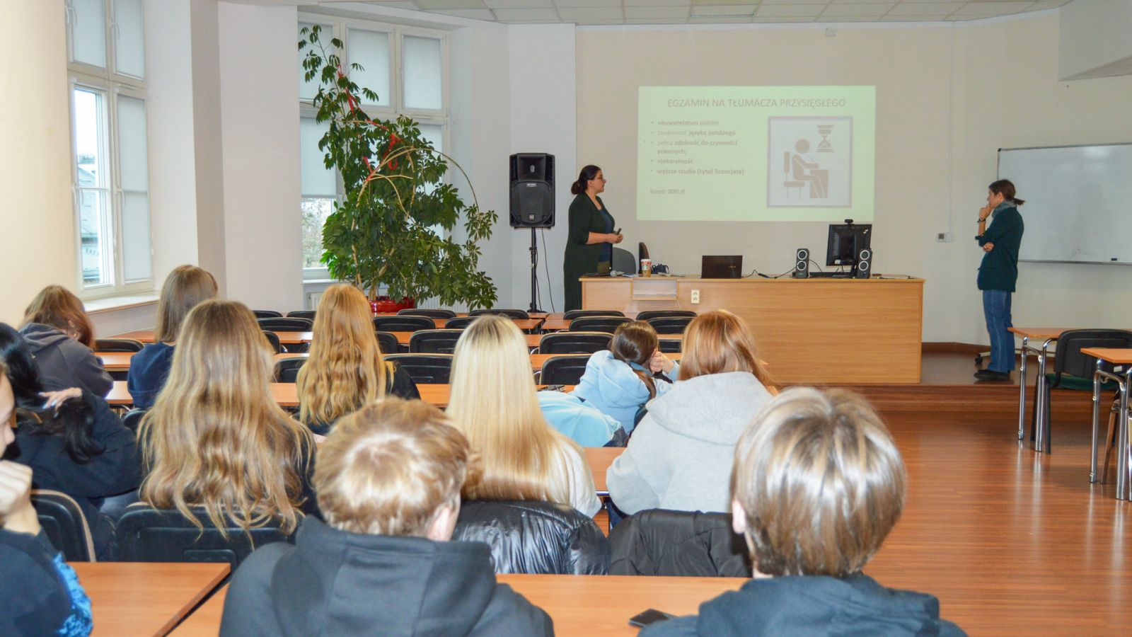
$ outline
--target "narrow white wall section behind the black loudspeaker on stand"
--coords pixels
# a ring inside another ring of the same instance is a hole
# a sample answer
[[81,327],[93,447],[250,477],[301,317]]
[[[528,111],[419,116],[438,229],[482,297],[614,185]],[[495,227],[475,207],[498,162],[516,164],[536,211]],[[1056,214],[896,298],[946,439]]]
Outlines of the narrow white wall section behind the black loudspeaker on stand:
[[[561,312],[563,253],[568,231],[567,211],[573,196],[569,184],[578,169],[577,84],[574,25],[512,25],[511,48],[511,153],[555,155],[555,221],[550,230],[538,230],[541,309]],[[508,153],[508,155],[511,154]],[[583,162],[589,160],[583,159]],[[504,158],[506,163],[506,158]],[[501,216],[509,218],[509,202]],[[507,307],[525,309],[531,301],[531,231],[511,233],[512,286]],[[549,271],[549,281],[548,281]],[[549,283],[549,284],[548,284]]]

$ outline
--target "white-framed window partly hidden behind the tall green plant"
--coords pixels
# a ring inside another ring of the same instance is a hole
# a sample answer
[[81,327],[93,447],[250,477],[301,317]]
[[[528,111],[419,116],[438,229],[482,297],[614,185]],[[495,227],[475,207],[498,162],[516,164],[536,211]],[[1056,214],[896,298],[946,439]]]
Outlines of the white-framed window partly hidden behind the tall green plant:
[[[393,119],[398,114],[412,117],[420,125],[422,136],[432,147],[444,152],[448,133],[447,41],[441,32],[409,28],[401,25],[379,24],[353,19],[329,19],[327,16],[300,15],[299,31],[319,25],[323,41],[342,40],[341,52],[346,68],[354,63],[362,69],[350,71],[359,86],[377,93],[377,102],[362,102],[362,108],[375,117]],[[301,57],[300,57],[301,60]],[[323,223],[341,201],[342,184],[324,163],[318,141],[326,127],[315,121],[310,100],[318,91],[317,78],[306,82],[303,69],[299,74],[300,104],[300,161],[302,164],[302,266],[307,279],[325,278],[323,257]],[[439,231],[439,228],[437,229]]]

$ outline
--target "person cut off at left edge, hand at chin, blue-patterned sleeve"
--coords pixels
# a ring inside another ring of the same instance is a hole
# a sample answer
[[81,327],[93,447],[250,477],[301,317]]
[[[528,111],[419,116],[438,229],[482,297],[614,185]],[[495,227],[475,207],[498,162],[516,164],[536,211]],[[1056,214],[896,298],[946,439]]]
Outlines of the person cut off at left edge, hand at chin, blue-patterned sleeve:
[[[0,457],[15,441],[16,398],[0,362]],[[0,461],[0,635],[91,634],[91,600],[32,507],[32,469]]]

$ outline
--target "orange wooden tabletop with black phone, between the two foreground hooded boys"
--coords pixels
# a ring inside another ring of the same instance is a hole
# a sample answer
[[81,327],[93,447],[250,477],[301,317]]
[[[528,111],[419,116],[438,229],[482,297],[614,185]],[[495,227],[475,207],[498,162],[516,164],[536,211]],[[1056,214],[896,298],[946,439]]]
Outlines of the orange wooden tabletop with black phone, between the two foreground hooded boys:
[[[547,611],[563,636],[635,636],[629,618],[645,609],[692,614],[700,604],[747,579],[740,577],[634,577],[626,575],[499,575],[532,604]],[[215,637],[228,587],[217,591],[173,632],[175,637]]]

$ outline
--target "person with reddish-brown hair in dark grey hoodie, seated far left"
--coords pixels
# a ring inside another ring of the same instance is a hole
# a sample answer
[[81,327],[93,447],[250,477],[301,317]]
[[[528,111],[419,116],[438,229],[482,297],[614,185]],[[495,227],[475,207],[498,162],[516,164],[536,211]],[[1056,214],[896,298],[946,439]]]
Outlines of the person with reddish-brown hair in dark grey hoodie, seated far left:
[[94,355],[94,328],[83,301],[61,286],[48,286],[24,313],[24,336],[48,391],[79,388],[105,397],[114,380]]

